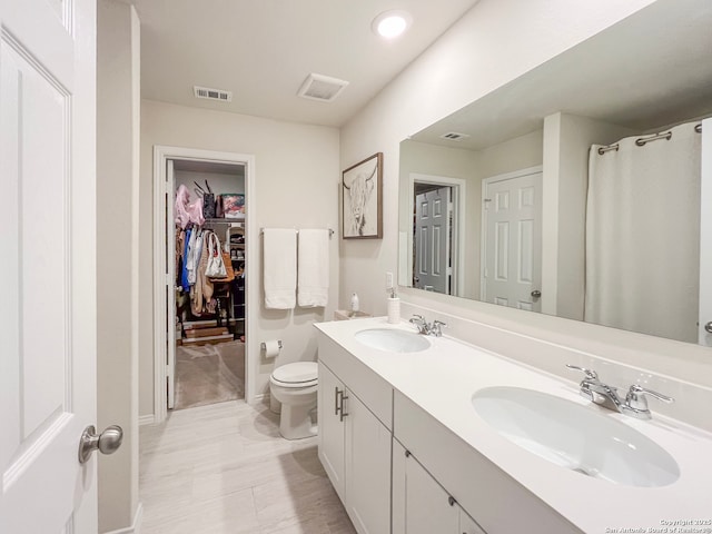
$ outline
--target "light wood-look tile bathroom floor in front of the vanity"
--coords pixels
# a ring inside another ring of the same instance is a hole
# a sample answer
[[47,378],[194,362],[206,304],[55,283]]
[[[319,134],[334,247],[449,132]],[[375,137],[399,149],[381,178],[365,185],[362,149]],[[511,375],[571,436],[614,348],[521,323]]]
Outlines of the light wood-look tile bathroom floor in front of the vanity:
[[142,534],[353,534],[317,457],[244,400],[171,412],[140,428]]

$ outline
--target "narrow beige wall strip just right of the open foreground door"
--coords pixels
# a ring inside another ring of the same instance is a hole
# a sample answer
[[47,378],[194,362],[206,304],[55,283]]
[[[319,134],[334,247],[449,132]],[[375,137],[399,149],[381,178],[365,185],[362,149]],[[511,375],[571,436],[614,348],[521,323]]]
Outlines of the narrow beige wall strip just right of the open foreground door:
[[99,532],[138,507],[138,136],[140,28],[134,7],[97,6],[97,423],[123,444],[98,456]]

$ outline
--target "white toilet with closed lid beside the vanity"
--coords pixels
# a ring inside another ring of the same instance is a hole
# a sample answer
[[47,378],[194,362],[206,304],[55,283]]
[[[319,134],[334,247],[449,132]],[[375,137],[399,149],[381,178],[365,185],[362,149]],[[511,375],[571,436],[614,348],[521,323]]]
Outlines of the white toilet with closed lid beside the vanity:
[[281,403],[279,434],[285,439],[315,436],[316,362],[296,362],[277,367],[269,377],[269,394]]

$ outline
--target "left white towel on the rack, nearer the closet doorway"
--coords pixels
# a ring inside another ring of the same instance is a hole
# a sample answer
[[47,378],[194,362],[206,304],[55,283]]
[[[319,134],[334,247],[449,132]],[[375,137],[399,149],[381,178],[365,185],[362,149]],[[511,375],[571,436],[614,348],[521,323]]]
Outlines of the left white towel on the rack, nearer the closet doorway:
[[265,307],[293,309],[297,288],[297,230],[266,228],[264,231]]

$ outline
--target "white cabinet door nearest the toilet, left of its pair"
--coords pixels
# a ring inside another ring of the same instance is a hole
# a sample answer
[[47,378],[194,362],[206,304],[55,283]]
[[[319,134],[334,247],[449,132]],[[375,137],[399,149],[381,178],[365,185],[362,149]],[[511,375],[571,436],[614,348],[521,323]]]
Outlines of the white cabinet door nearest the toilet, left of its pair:
[[332,485],[344,502],[344,438],[345,422],[335,413],[336,392],[344,392],[344,384],[319,362],[317,412],[319,421],[319,459]]

